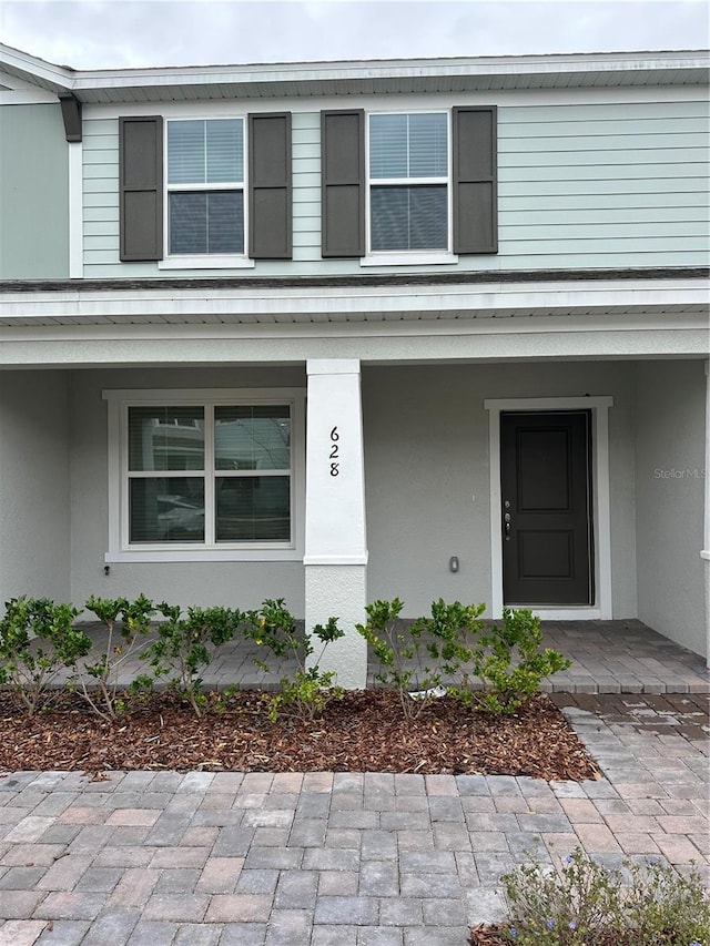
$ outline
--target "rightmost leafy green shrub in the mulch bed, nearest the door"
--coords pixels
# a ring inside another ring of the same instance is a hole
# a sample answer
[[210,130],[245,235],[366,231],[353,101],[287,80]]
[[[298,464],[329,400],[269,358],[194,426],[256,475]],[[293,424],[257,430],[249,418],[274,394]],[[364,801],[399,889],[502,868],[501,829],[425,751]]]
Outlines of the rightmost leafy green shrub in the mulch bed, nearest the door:
[[540,650],[540,619],[527,609],[503,612],[503,627],[494,624],[474,649],[474,674],[487,682],[483,705],[496,713],[515,712],[540,689],[544,677],[566,670],[570,662],[559,651]]

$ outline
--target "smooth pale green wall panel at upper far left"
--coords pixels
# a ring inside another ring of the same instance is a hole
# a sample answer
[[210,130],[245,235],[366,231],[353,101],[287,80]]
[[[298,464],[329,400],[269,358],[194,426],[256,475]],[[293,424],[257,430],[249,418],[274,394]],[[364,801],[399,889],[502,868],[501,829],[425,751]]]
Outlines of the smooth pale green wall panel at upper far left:
[[0,108],[0,278],[69,276],[68,161],[59,104]]

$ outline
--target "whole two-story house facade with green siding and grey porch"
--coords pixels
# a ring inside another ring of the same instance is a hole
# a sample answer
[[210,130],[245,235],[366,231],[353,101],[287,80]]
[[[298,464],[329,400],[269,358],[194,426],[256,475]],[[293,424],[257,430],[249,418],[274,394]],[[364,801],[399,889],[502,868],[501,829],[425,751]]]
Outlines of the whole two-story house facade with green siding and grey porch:
[[708,55],[0,47],[0,594],[710,637]]

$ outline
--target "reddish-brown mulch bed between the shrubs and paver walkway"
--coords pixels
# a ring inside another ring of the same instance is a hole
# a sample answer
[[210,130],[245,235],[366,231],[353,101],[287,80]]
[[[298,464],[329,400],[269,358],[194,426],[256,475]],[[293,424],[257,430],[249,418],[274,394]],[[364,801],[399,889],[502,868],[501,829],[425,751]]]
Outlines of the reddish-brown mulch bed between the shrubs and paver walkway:
[[405,720],[387,690],[346,692],[321,719],[267,716],[267,695],[242,691],[197,719],[176,695],[156,693],[118,722],[58,694],[28,719],[0,692],[0,770],[203,770],[417,772],[598,777],[584,744],[544,694],[514,715],[465,709],[449,698]]

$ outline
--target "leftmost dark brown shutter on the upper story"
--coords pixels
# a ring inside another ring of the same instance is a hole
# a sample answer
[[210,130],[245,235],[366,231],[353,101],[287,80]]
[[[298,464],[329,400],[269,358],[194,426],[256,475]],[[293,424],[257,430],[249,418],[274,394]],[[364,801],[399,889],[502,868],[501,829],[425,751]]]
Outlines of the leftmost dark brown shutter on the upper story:
[[163,120],[119,119],[120,258],[163,258]]

